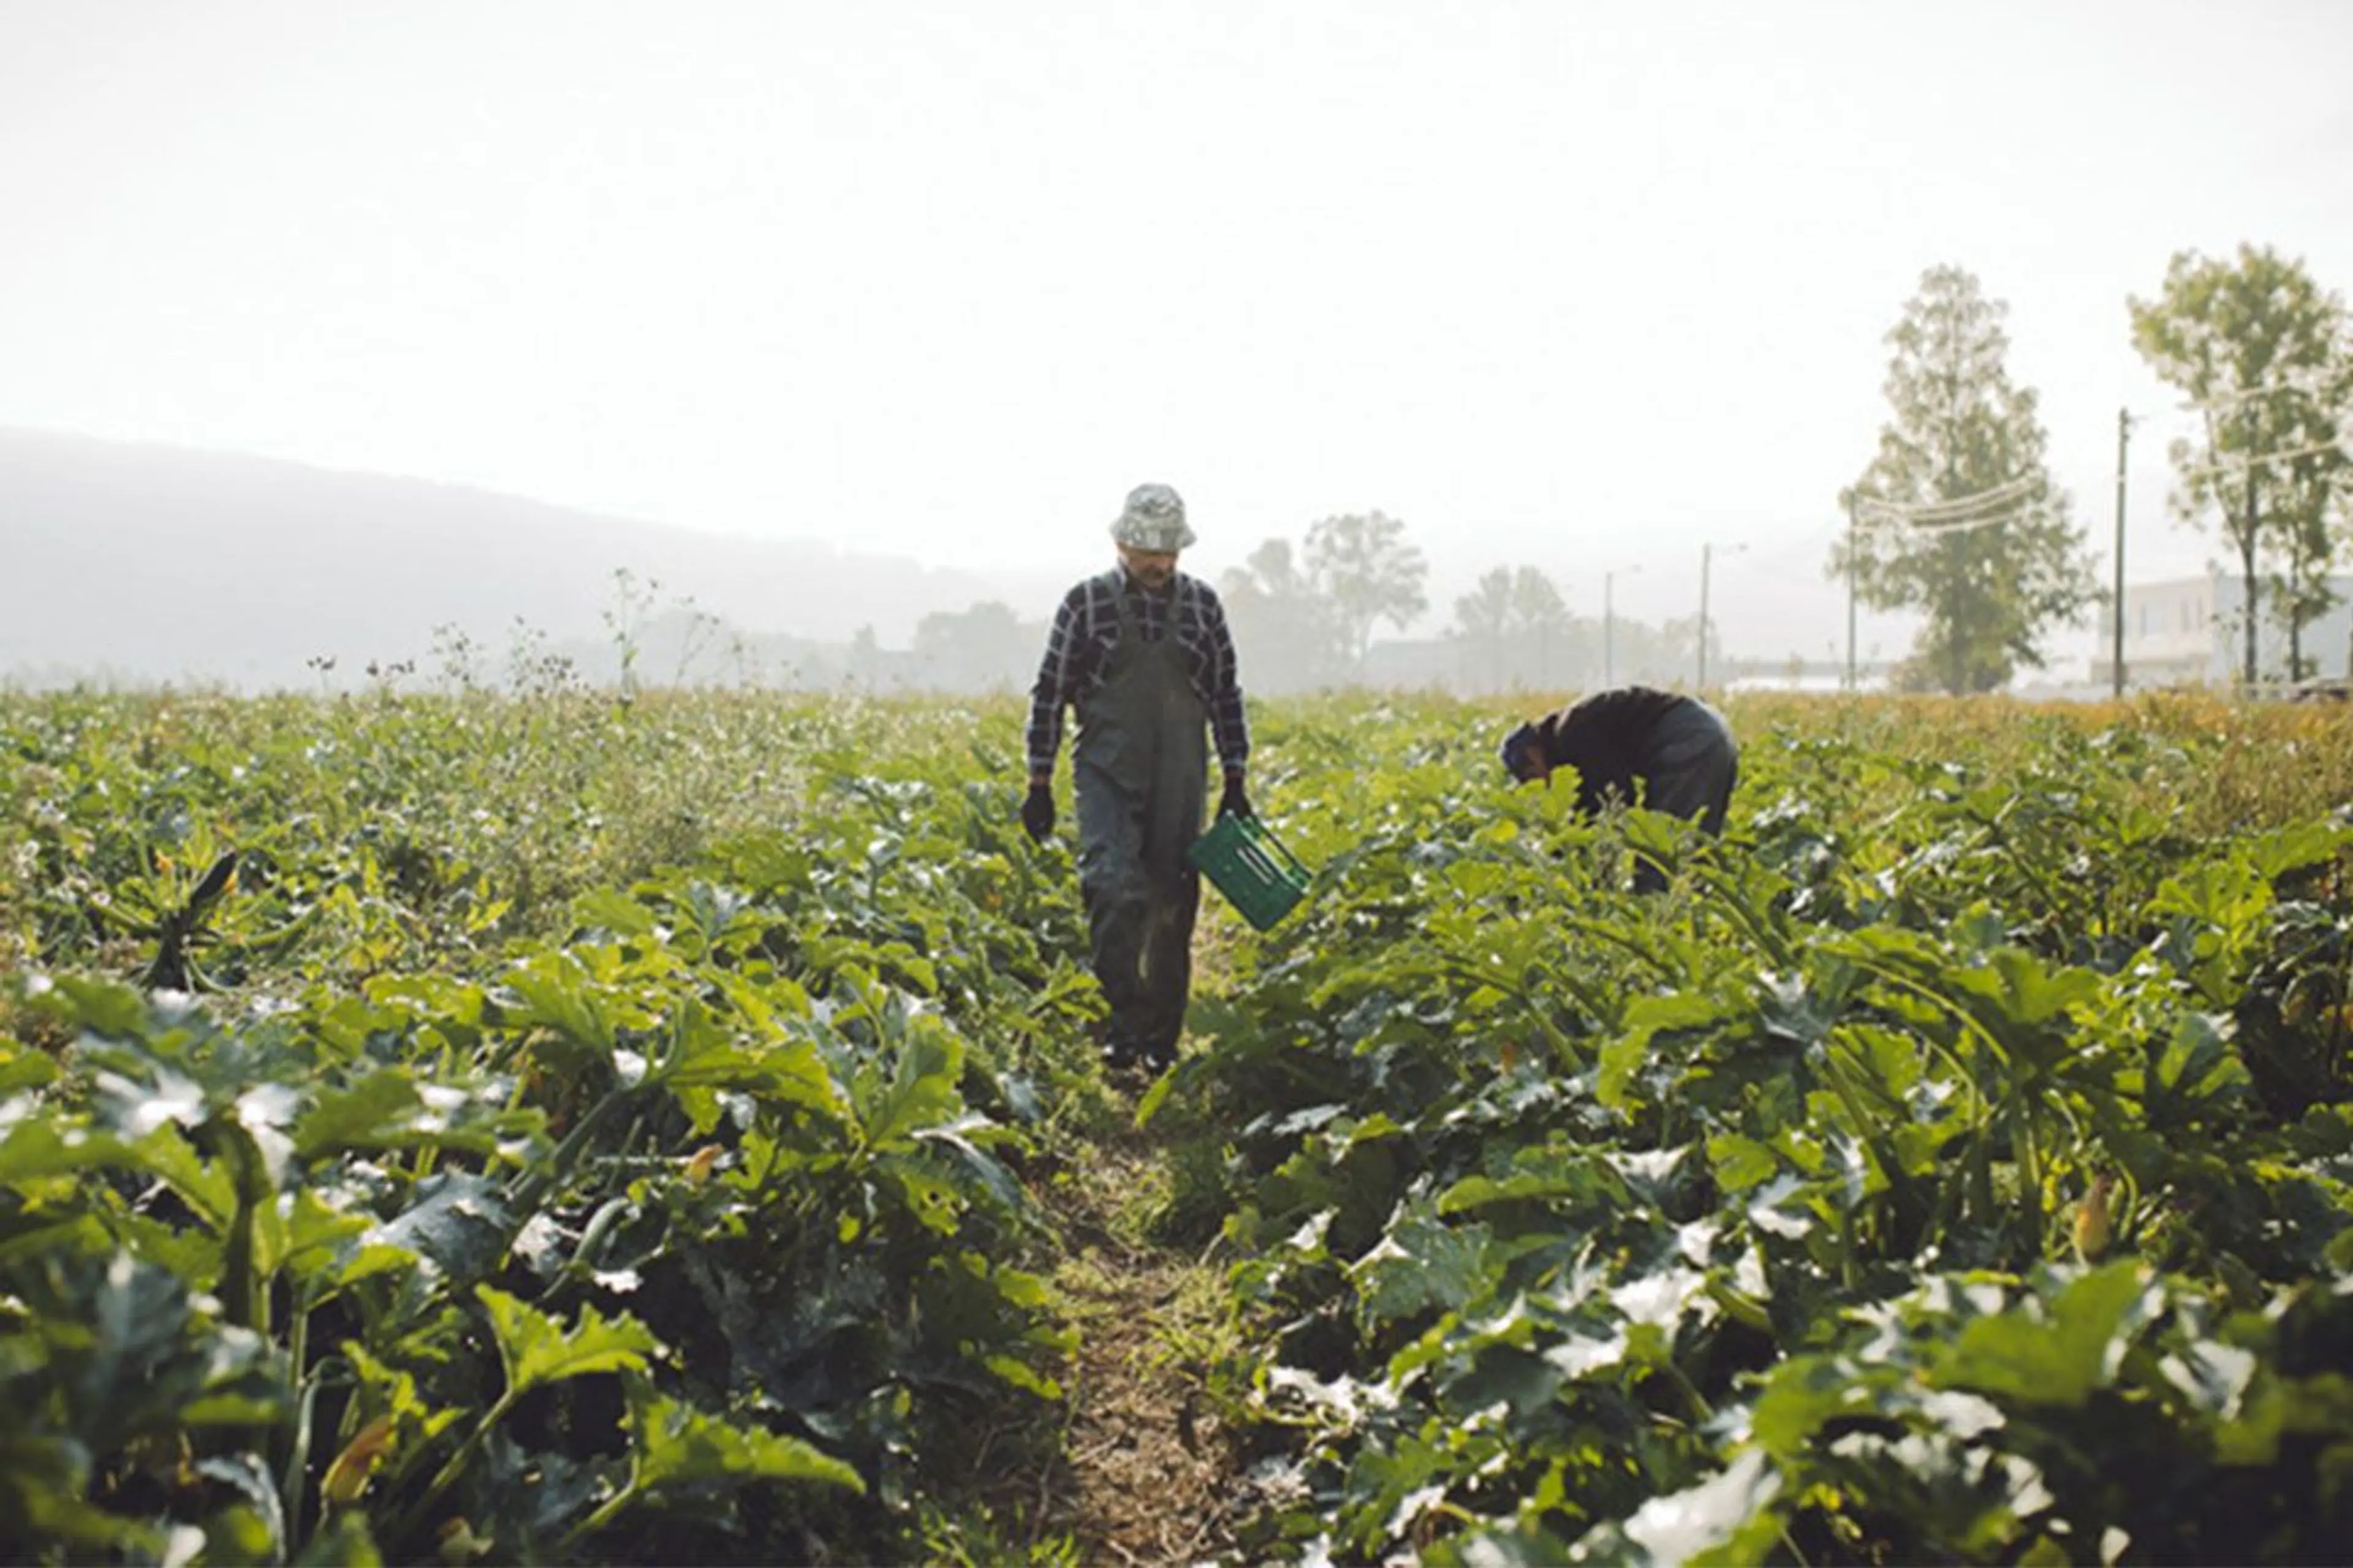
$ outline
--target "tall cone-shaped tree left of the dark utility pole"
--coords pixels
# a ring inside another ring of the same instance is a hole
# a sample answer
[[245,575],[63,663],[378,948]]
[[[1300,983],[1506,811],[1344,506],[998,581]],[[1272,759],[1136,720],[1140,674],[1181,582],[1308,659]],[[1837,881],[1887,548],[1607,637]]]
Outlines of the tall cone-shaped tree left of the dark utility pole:
[[1894,418],[1842,494],[1868,527],[1831,550],[1831,576],[1852,567],[1864,604],[1927,616],[1913,677],[1955,693],[2040,668],[2042,637],[2097,597],[2082,529],[2045,465],[2035,393],[2009,381],[2007,315],[1974,273],[1920,275],[1887,334]]

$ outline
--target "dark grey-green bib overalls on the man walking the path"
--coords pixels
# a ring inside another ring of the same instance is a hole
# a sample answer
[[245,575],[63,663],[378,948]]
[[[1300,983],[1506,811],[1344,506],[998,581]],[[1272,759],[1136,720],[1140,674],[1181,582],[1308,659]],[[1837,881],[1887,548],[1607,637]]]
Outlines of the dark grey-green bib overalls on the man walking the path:
[[1078,891],[1111,1001],[1108,1056],[1167,1065],[1193,985],[1200,872],[1186,849],[1207,802],[1209,715],[1174,623],[1146,642],[1129,592],[1120,583],[1120,639],[1104,682],[1078,703]]

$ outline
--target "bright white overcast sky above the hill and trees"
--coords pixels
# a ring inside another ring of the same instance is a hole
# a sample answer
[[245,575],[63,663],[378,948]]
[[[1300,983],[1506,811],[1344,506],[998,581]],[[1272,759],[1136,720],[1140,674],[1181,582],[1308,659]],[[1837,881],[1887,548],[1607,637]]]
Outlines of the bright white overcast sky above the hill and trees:
[[1746,543],[1741,649],[1842,604],[1922,268],[2106,550],[2125,296],[2240,240],[2353,289],[2348,2],[0,0],[0,423],[941,564],[1160,477],[1205,574],[1381,508],[1689,614]]

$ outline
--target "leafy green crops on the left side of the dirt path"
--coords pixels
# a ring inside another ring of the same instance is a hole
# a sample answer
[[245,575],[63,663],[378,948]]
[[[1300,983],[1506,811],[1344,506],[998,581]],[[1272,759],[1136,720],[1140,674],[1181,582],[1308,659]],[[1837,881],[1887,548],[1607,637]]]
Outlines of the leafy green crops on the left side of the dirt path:
[[560,755],[468,762],[511,710],[12,715],[16,1549],[856,1554],[962,1410],[1056,1394],[1016,1168],[1094,1006],[1059,884],[845,715],[574,717],[673,790],[784,743],[816,804],[525,903],[553,860],[487,813],[602,846],[501,783]]

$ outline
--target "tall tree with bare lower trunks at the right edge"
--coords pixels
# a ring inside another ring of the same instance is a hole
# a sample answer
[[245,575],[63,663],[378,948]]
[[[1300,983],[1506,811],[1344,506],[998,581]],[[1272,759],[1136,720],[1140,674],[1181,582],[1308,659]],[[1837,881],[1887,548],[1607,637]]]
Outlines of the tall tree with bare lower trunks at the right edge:
[[2301,261],[2240,244],[2231,261],[2177,254],[2158,296],[2127,306],[2134,348],[2188,395],[2202,421],[2202,435],[2172,447],[2174,510],[2191,522],[2219,517],[2238,552],[2242,679],[2261,677],[2264,545],[2280,552],[2275,604],[2289,658],[2301,663],[2304,625],[2332,599],[2332,512],[2353,484],[2344,444],[2353,404],[2344,301],[2320,289]]

